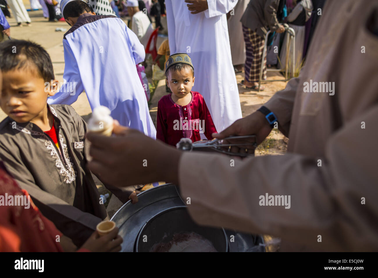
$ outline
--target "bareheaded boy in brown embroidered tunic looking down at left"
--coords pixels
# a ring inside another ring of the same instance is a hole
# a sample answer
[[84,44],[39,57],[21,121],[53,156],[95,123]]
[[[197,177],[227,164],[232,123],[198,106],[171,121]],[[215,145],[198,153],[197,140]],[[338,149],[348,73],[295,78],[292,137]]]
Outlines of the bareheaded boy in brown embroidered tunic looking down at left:
[[[48,53],[39,45],[2,43],[0,69],[0,106],[8,115],[0,123],[0,160],[42,214],[81,245],[108,217],[86,166],[86,123],[71,106],[46,103],[57,80]],[[107,187],[122,202],[135,190]]]

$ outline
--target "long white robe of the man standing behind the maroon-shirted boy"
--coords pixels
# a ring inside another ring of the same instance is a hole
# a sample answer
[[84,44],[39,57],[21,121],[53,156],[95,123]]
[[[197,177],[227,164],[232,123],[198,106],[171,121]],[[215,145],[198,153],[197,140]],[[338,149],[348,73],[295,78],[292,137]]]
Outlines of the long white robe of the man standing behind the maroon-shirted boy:
[[208,0],[191,14],[184,1],[166,0],[170,54],[187,53],[194,65],[193,91],[203,95],[218,132],[242,118],[232,66],[226,13],[237,0]]

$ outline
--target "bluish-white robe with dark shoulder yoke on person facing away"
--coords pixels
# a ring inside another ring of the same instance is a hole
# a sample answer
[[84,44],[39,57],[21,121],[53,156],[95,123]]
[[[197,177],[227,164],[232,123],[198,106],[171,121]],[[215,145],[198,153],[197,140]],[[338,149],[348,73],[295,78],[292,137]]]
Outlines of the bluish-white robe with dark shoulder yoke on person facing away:
[[[118,17],[102,18],[70,31],[63,39],[65,84],[47,102],[72,104],[85,90],[92,110],[106,106],[121,125],[155,139],[156,129],[136,71],[136,64],[145,56],[136,35]],[[71,95],[74,85],[76,93]]]

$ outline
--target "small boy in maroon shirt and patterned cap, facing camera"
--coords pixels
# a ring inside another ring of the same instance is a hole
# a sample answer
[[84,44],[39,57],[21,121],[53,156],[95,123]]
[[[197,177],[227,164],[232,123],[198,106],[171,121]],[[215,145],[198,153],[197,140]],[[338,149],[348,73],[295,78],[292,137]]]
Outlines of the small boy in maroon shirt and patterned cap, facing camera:
[[203,96],[191,91],[194,67],[190,57],[185,53],[169,56],[166,77],[172,93],[163,96],[158,103],[156,138],[172,146],[181,138],[199,141],[200,133],[212,140],[211,134],[217,130],[209,109]]

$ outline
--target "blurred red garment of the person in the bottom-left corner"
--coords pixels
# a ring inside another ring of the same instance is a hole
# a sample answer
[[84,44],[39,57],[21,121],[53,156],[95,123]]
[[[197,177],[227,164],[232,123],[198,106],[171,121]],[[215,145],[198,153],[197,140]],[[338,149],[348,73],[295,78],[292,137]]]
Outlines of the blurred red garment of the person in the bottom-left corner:
[[[29,196],[0,163],[0,196]],[[30,196],[29,196],[30,198]],[[62,236],[30,200],[30,207],[0,205],[0,252],[63,252],[56,236]]]

